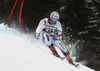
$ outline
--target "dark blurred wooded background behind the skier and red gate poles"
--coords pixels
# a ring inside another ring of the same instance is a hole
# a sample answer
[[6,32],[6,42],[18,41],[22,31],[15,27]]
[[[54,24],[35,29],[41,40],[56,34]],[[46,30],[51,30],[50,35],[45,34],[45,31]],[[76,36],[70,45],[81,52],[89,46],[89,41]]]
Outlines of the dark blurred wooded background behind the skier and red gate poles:
[[[0,23],[7,23],[16,0],[0,0]],[[18,0],[9,27],[19,28],[21,0]],[[100,71],[100,0],[24,0],[23,32],[33,32],[42,18],[58,11],[66,44],[76,44],[77,62]]]

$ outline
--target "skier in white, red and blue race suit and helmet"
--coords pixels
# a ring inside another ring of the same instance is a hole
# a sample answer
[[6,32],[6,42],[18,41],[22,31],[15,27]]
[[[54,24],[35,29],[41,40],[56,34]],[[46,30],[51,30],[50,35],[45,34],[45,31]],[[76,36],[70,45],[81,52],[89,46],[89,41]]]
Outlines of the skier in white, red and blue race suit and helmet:
[[[56,38],[54,31],[57,29],[59,38]],[[40,21],[36,29],[36,38],[40,36],[42,42],[49,47],[53,55],[59,57],[58,52],[54,46],[57,46],[61,52],[64,54],[69,63],[75,65],[73,60],[70,58],[69,51],[61,43],[60,40],[63,38],[62,26],[59,22],[59,13],[54,11],[50,14],[50,18],[44,18]]]

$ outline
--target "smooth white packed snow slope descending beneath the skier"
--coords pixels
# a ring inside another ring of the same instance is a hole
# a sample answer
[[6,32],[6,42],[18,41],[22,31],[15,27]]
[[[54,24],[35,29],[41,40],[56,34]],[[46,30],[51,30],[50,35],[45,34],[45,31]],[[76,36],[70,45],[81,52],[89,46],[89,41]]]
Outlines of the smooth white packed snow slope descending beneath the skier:
[[0,71],[94,71],[83,65],[78,69],[32,43],[37,42],[0,24]]

